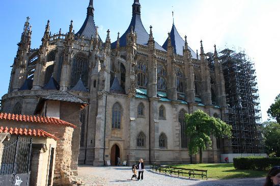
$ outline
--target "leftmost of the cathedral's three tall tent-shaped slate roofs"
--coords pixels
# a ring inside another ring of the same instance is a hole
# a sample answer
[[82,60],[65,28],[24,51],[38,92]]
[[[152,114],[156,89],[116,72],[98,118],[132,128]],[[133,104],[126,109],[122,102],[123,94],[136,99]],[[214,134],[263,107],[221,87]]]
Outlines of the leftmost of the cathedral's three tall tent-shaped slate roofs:
[[[83,22],[80,30],[75,34],[75,36],[85,36],[85,38],[91,38],[92,36],[96,36],[96,26],[94,22],[94,8],[93,8],[93,0],[90,0],[88,12],[87,12],[87,18],[85,22]],[[98,35],[99,37],[99,35]],[[102,41],[99,37],[99,41]]]

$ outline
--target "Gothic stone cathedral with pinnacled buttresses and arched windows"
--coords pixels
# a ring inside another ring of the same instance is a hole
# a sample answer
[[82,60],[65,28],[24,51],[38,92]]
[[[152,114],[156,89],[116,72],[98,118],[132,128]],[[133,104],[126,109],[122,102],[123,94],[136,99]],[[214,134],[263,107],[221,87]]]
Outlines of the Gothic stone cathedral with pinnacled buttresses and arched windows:
[[[81,113],[72,112],[70,103],[60,107],[61,118],[77,126],[72,151],[75,156],[79,154],[78,163],[101,166],[116,156],[128,163],[139,158],[145,162],[197,162],[198,156],[188,156],[187,140],[183,142],[182,134],[184,123],[179,122],[179,115],[201,109],[226,120],[225,86],[216,49],[214,54],[205,53],[201,41],[199,55],[190,49],[186,37],[183,40],[180,36],[180,45],[174,44],[178,37],[175,25],[166,34],[166,47],[159,46],[152,26],[147,33],[142,25],[138,0],[132,6],[127,32],[111,43],[108,30],[102,42],[94,25],[92,0],[87,10],[87,19],[77,34],[71,21],[67,34],[59,30],[50,35],[48,21],[39,49],[30,48],[32,31],[27,18],[9,91],[2,98],[2,111],[33,114],[40,97],[59,89],[48,88],[54,79],[61,90],[90,103]],[[89,21],[91,24],[87,24]],[[210,55],[215,59],[214,69],[209,68]],[[86,89],[77,88],[79,79]],[[120,110],[113,110],[116,104]],[[64,113],[66,110],[69,111]],[[137,139],[139,134],[143,138]],[[71,135],[61,138],[69,139]],[[58,156],[69,156],[69,141],[58,142],[58,146],[65,150],[57,151]],[[230,150],[227,146],[213,137],[212,149],[203,153],[204,162],[218,163],[219,154]],[[75,156],[69,160],[72,170],[76,170]],[[57,174],[61,175],[58,171]]]

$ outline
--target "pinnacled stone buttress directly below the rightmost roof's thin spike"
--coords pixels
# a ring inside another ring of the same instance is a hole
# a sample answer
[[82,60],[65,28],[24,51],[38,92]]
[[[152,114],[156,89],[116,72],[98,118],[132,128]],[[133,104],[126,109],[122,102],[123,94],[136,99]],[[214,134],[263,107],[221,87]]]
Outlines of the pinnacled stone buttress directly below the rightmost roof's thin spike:
[[170,33],[167,40],[167,98],[177,100],[175,56]]

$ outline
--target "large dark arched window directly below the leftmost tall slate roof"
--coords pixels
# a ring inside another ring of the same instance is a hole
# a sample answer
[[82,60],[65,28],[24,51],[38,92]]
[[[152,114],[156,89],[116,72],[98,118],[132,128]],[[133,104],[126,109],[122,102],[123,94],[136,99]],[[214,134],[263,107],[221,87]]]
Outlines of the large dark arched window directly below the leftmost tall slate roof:
[[85,86],[88,86],[88,70],[89,60],[83,53],[77,53],[73,59],[72,72],[71,72],[71,85],[77,84],[81,77],[81,80]]

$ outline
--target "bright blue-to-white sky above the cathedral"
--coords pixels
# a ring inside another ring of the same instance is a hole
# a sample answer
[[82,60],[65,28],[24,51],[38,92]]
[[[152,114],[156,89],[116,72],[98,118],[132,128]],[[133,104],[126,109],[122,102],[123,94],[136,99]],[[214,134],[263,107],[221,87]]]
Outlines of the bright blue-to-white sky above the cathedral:
[[[31,17],[32,48],[38,48],[47,20],[52,33],[66,33],[71,19],[77,32],[86,18],[89,0],[2,0],[0,8],[0,96],[8,91],[13,59],[27,16]],[[133,0],[94,0],[95,23],[105,40],[111,41],[127,29]],[[140,0],[142,21],[147,30],[153,26],[155,40],[162,45],[172,27],[172,11],[179,34],[188,36],[195,51],[203,40],[204,50],[235,47],[245,49],[255,61],[263,121],[269,105],[280,94],[278,44],[280,43],[280,1],[278,0]]]

